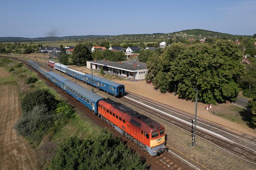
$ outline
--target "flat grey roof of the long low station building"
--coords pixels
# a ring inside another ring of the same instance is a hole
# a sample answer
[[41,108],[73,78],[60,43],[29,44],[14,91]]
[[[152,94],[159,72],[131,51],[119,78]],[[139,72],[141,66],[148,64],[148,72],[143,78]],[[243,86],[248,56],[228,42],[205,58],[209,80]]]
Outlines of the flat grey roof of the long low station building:
[[122,64],[120,65],[119,62],[115,62],[115,61],[103,61],[103,60],[97,60],[97,61],[89,61],[90,63],[92,64],[97,64],[97,65],[101,65],[101,66],[107,66],[107,67],[110,67],[110,68],[116,68],[116,69],[120,69],[120,70],[126,70],[126,71],[129,71],[129,72],[137,72],[139,70],[142,70],[142,69],[147,69],[147,66],[146,65],[140,65],[140,67],[133,67],[133,64],[127,64],[127,63],[124,63],[122,62]]

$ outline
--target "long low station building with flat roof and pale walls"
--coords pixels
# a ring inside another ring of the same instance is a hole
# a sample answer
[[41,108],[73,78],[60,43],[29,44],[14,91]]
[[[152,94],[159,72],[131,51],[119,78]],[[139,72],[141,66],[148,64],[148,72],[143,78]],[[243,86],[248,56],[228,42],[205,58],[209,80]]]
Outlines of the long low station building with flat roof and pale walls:
[[143,80],[145,79],[145,74],[148,72],[146,63],[133,63],[127,64],[120,62],[114,62],[109,60],[94,60],[86,61],[86,67],[91,69],[99,69],[103,67],[103,70],[129,77],[132,79]]

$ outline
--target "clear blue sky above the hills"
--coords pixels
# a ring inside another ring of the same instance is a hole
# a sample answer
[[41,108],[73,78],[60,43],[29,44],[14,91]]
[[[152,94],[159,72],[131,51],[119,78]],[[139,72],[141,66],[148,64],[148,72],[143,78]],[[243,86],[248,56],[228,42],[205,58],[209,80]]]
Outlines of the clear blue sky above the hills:
[[256,0],[8,0],[0,37],[121,35],[206,29],[256,34]]

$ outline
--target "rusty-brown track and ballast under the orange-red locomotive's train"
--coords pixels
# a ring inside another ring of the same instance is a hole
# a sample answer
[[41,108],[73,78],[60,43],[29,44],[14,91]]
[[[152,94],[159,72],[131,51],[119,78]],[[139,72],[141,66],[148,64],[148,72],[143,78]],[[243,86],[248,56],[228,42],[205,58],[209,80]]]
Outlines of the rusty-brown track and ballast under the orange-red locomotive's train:
[[[7,57],[10,58],[10,57]],[[31,66],[29,66],[27,64],[26,60],[23,59],[19,59],[19,58],[11,58],[11,59],[15,59],[17,61],[22,62],[23,64],[25,64],[30,70],[36,72],[39,77],[43,80],[45,80],[47,82],[47,84],[54,88],[57,89],[64,97],[67,98],[67,101],[72,104],[73,106],[76,107],[76,109],[78,109],[80,112],[84,113],[84,114],[79,114],[83,119],[87,120],[86,117],[89,117],[89,119],[100,125],[103,128],[108,128],[109,130],[111,130],[111,132],[116,135],[116,136],[120,136],[122,138],[122,140],[128,144],[128,146],[130,146],[134,151],[138,152],[140,155],[142,155],[144,158],[147,157],[147,163],[152,163],[150,165],[150,169],[193,169],[191,167],[191,165],[187,165],[186,163],[182,162],[181,160],[179,160],[176,157],[173,157],[170,154],[161,154],[160,156],[157,157],[151,157],[147,152],[145,151],[141,151],[140,148],[133,143],[132,141],[127,141],[127,139],[120,135],[114,128],[112,128],[109,124],[103,122],[98,116],[96,116],[89,108],[87,108],[86,106],[84,106],[84,104],[82,104],[81,102],[77,101],[74,97],[68,95],[67,93],[65,93],[63,90],[61,90],[60,88],[58,88],[52,81],[49,81],[46,77],[44,77],[41,73],[37,72],[36,70],[34,70]],[[43,62],[40,62],[43,63]],[[50,67],[51,68],[51,67]],[[56,70],[58,71],[58,70]],[[60,72],[60,71],[59,71]],[[62,72],[60,72],[62,73]],[[79,81],[79,80],[77,80]],[[82,82],[82,81],[81,81]],[[106,93],[107,94],[107,93]],[[86,114],[86,117],[85,117]],[[153,166],[152,166],[153,165]],[[194,166],[196,167],[196,166]]]

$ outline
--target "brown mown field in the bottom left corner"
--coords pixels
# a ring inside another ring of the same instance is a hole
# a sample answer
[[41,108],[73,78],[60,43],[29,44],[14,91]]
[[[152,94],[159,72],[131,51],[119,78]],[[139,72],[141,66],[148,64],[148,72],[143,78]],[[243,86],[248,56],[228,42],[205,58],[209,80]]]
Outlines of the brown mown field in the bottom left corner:
[[13,129],[21,115],[18,89],[13,85],[0,89],[0,169],[36,169],[35,151]]

